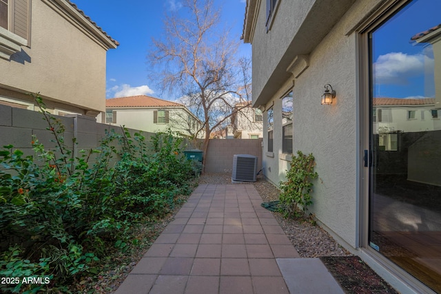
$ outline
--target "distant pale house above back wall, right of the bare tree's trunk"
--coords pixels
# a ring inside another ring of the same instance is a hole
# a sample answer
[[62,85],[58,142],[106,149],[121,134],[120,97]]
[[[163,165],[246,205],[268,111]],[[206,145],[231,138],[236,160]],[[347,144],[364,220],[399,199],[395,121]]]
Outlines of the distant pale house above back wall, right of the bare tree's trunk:
[[232,123],[227,128],[227,138],[257,139],[263,138],[263,115],[260,109],[252,108],[251,101],[237,103],[232,115]]

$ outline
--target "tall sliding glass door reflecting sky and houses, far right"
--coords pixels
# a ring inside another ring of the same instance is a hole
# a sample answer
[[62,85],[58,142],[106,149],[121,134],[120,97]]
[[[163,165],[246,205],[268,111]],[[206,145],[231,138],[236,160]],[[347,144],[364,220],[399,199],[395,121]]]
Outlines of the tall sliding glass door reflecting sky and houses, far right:
[[369,246],[441,293],[441,1],[369,34]]

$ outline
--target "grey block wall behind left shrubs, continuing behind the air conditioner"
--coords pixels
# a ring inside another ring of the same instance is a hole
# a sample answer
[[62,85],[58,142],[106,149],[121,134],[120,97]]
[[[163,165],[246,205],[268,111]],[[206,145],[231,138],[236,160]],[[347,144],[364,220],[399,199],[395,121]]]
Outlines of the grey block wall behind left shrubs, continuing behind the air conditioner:
[[[51,116],[54,116],[51,114]],[[72,147],[72,138],[76,138],[74,146],[75,156],[81,156],[81,149],[89,150],[99,147],[105,132],[114,129],[122,134],[121,127],[96,123],[94,118],[88,116],[54,116],[61,120],[65,126],[65,145]],[[36,135],[39,142],[46,148],[55,148],[52,142],[54,136],[46,129],[48,123],[43,119],[43,114],[27,109],[19,109],[6,105],[0,105],[0,148],[4,145],[14,145],[14,149],[20,149],[25,155],[34,155],[32,150],[32,135]],[[136,131],[128,130],[133,137]],[[143,132],[147,146],[153,133]],[[120,147],[119,143],[112,143]],[[185,141],[185,149],[192,149],[194,143]],[[201,144],[196,144],[201,145]],[[250,154],[258,157],[258,170],[262,167],[262,138],[259,139],[213,139],[209,140],[207,154],[204,155],[205,171],[209,173],[231,173],[233,169],[234,154]],[[96,154],[94,154],[94,157]],[[92,158],[93,160],[94,158]]]

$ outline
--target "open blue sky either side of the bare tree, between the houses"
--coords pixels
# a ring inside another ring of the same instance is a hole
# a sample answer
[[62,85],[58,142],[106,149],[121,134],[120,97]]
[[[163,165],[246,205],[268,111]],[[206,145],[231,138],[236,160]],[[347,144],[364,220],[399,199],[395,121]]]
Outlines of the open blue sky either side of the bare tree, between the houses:
[[[152,38],[163,32],[163,16],[178,10],[179,0],[71,0],[85,15],[120,43],[107,51],[106,98],[148,95],[175,100],[155,88],[147,77],[147,52]],[[245,0],[214,0],[222,8],[221,22],[240,38],[245,17]],[[238,54],[251,56],[251,45],[240,42]]]

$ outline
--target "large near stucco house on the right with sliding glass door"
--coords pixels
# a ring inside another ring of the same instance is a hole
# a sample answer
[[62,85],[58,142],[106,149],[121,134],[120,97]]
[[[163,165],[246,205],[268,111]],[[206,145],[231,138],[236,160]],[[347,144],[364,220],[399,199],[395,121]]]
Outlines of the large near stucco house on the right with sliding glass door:
[[291,154],[312,153],[310,212],[401,293],[441,293],[440,11],[248,0],[245,14],[265,177],[284,180]]

